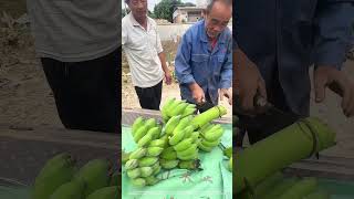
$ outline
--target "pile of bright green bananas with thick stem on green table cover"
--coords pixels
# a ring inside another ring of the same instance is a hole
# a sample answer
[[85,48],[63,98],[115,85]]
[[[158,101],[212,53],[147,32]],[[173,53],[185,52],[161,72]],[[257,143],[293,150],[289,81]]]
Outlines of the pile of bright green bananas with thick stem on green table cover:
[[169,98],[162,108],[164,128],[154,118],[135,119],[132,135],[138,147],[122,156],[133,185],[157,184],[162,169],[198,169],[199,148],[211,151],[218,146],[223,129],[210,122],[225,115],[225,107],[216,106],[198,116],[194,113],[196,105]]

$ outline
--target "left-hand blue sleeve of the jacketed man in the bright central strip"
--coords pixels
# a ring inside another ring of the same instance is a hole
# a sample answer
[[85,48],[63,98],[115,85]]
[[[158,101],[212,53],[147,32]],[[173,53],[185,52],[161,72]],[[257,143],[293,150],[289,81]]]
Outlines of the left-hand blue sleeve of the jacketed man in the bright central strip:
[[175,72],[180,84],[190,84],[196,82],[191,74],[191,67],[189,64],[191,54],[190,36],[189,31],[184,34],[175,59]]

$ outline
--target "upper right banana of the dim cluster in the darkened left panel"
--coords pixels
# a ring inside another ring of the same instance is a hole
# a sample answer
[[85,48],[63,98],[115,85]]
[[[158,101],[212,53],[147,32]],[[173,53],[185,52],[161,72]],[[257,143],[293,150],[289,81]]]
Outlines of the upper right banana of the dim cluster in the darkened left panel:
[[96,189],[107,187],[112,164],[106,159],[93,159],[84,165],[75,176],[85,182],[84,195],[88,196]]

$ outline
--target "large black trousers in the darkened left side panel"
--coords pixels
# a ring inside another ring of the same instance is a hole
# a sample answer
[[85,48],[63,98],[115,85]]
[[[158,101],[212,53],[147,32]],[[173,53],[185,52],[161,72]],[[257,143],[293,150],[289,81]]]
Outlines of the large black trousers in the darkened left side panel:
[[65,128],[118,132],[118,50],[84,62],[64,63],[49,57],[41,62]]

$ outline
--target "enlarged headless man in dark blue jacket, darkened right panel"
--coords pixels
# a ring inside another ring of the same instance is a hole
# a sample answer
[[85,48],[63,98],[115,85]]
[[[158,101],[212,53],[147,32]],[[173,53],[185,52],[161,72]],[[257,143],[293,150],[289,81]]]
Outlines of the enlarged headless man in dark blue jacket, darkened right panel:
[[[354,115],[354,84],[341,71],[352,43],[353,0],[238,0],[233,28],[238,92],[242,108],[254,111],[258,93],[283,112],[310,114],[310,65],[315,102],[329,87],[342,96],[343,113]],[[249,118],[240,118],[249,119]],[[273,129],[249,132],[256,143]]]

